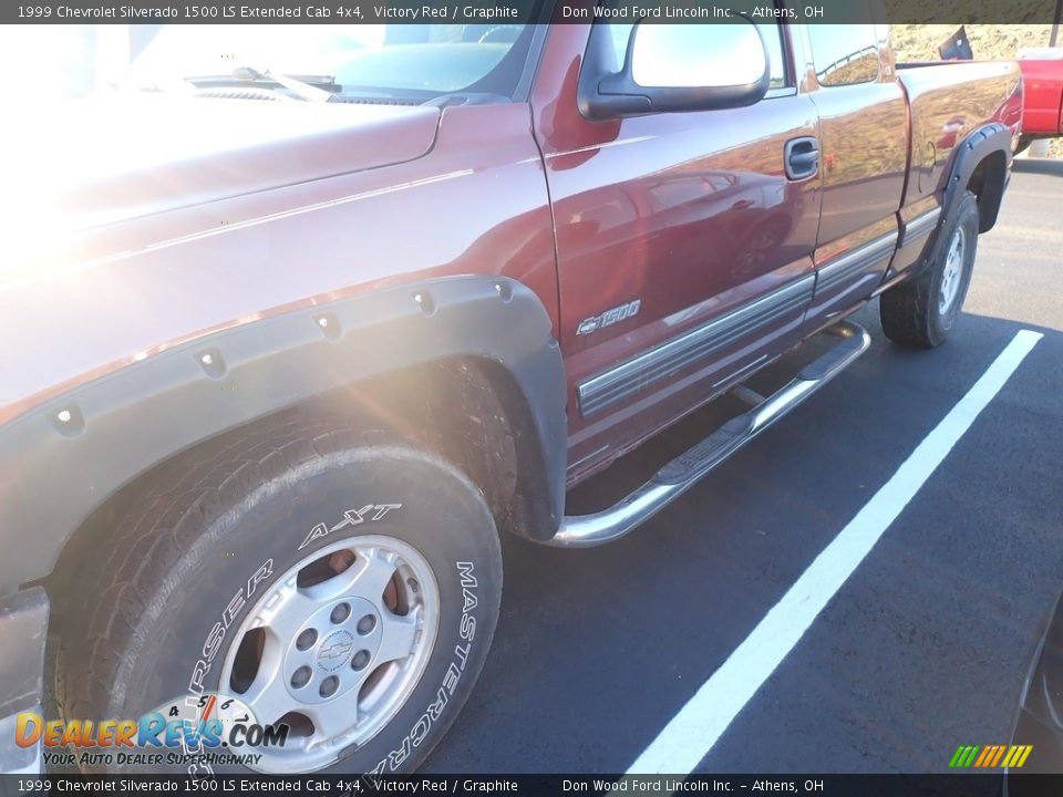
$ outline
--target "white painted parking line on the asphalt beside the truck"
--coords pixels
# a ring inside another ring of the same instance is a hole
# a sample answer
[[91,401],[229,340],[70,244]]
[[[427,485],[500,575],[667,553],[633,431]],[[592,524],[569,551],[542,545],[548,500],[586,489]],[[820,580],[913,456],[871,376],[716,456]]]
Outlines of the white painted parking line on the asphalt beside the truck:
[[1015,334],[967,395],[664,726],[628,775],[693,772],[1041,338],[1031,330]]

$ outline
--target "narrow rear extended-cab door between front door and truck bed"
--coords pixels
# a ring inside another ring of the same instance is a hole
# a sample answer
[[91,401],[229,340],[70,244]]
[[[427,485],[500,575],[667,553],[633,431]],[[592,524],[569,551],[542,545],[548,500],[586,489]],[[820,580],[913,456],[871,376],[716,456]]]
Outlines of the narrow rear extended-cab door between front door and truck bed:
[[819,111],[823,210],[816,240],[821,325],[870,296],[897,246],[908,158],[908,107],[887,29],[803,27],[811,45],[811,96]]

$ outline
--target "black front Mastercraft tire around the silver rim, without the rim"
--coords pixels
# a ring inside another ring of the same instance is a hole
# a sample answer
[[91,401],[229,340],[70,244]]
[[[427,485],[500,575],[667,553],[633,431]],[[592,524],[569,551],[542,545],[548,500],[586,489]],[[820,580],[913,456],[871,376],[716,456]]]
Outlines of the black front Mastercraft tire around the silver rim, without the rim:
[[[55,664],[56,703],[65,718],[141,717],[195,693],[197,680],[206,692],[233,694],[219,672],[227,651],[239,644],[237,630],[255,599],[313,551],[337,540],[354,546],[367,535],[384,536],[415,548],[431,566],[440,599],[434,645],[425,645],[420,677],[410,679],[412,692],[382,729],[316,770],[415,769],[468,697],[498,618],[499,540],[479,490],[435,456],[308,422],[259,427],[193,455],[165,468],[79,568],[81,584],[60,631]],[[361,525],[308,534],[369,504],[401,506],[379,518],[379,511],[365,513]],[[399,578],[401,583],[405,577]],[[249,579],[256,579],[254,590]],[[245,588],[250,596],[234,608],[234,596]],[[221,633],[231,638],[211,642],[215,654],[208,655],[207,640],[226,611],[230,622]],[[149,769],[204,772],[186,762]],[[246,772],[240,765],[211,769]]]

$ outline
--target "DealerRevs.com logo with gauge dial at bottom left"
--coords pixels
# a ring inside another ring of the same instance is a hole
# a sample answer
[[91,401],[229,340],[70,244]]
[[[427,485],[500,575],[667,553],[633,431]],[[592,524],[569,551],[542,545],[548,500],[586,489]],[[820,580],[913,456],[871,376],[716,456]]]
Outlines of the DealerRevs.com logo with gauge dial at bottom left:
[[43,745],[45,764],[60,766],[255,766],[261,756],[244,751],[283,747],[288,733],[288,725],[259,724],[239,698],[208,693],[178,697],[138,720],[45,722],[40,714],[23,712],[16,718],[14,742],[20,747]]

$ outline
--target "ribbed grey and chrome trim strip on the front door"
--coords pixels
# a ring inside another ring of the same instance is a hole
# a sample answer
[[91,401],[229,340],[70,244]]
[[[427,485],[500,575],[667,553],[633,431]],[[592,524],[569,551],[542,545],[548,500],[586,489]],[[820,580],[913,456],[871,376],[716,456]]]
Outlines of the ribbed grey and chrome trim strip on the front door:
[[580,382],[576,387],[580,414],[588,417],[619,404],[751,334],[778,315],[801,309],[812,300],[815,281],[814,273],[802,277],[723,318],[710,321]]

